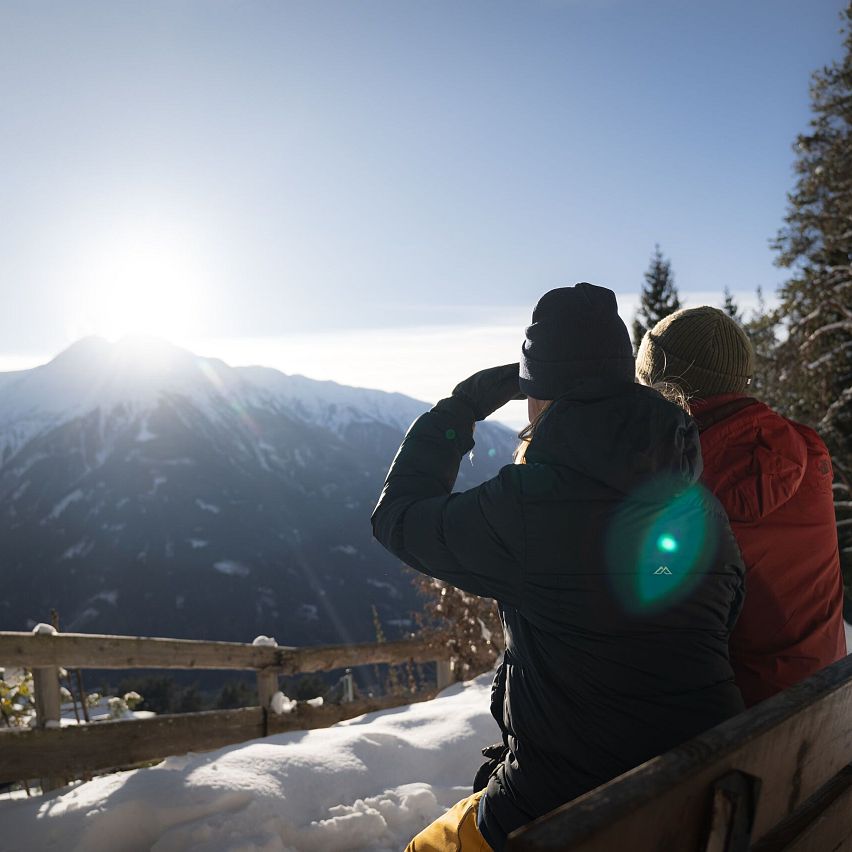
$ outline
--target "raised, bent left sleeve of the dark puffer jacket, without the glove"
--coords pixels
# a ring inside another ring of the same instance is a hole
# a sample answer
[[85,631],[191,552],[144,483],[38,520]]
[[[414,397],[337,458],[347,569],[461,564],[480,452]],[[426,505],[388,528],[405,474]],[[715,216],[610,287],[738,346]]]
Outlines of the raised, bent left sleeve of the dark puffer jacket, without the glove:
[[442,400],[408,430],[373,511],[373,534],[418,571],[482,597],[520,604],[523,516],[514,465],[452,493],[473,448],[473,418]]

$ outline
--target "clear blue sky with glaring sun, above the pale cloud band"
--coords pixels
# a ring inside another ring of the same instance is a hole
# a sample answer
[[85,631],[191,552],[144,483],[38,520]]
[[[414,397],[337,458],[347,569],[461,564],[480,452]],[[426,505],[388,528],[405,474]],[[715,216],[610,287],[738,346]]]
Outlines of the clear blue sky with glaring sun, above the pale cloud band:
[[471,330],[629,297],[657,242],[686,293],[771,292],[843,6],[0,0],[2,363]]

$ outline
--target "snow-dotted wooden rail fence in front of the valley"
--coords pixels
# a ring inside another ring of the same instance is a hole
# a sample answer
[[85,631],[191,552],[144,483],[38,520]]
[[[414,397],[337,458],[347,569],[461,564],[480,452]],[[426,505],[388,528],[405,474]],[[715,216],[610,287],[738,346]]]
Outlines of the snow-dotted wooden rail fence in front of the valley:
[[[40,778],[42,788],[50,790],[71,778],[189,751],[209,751],[284,731],[324,728],[362,713],[426,700],[450,682],[448,654],[417,639],[293,648],[83,633],[0,632],[0,666],[32,669],[36,702],[36,727],[0,730],[0,783]],[[320,707],[299,703],[282,715],[270,710],[281,675],[407,661],[436,661],[436,688]],[[56,727],[51,723],[58,723],[60,718],[60,667],[255,671],[259,706]]]

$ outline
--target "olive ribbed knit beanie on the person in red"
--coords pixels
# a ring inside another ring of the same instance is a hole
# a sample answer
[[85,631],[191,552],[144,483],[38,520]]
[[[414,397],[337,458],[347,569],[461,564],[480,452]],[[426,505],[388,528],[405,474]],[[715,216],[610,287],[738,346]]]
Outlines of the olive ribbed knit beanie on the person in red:
[[705,305],[661,319],[642,338],[636,378],[668,381],[699,399],[743,393],[754,375],[754,350],[724,311]]

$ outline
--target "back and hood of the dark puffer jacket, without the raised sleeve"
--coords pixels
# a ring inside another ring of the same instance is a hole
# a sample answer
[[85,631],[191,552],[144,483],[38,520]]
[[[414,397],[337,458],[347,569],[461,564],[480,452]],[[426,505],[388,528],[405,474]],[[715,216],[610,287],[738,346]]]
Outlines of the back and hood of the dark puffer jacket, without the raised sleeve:
[[493,518],[523,553],[501,602],[515,760],[483,808],[506,834],[743,709],[728,661],[742,566],[684,413],[591,383],[550,406],[525,456],[504,474],[516,518]]

